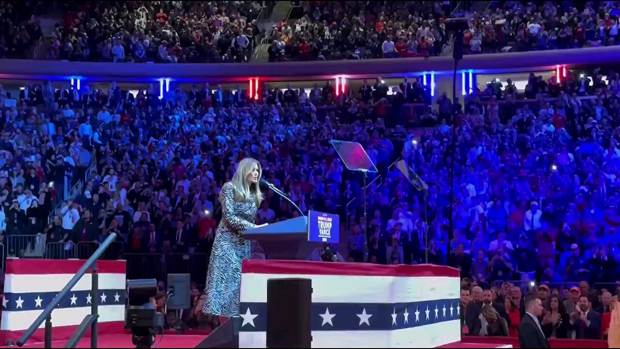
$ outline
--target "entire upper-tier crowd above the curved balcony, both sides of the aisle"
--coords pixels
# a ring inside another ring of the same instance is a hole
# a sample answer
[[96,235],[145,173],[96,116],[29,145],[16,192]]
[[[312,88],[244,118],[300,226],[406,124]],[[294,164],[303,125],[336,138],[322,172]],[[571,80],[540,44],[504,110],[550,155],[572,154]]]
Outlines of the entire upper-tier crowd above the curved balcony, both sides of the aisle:
[[620,39],[617,1],[503,1],[478,11],[447,1],[298,1],[297,11],[268,30],[259,30],[265,7],[258,1],[63,2],[61,20],[45,37],[32,15],[49,11],[51,2],[34,3],[0,4],[0,58],[244,62],[263,38],[270,61],[428,57],[454,49],[445,29],[451,17],[467,19],[462,45],[471,54]]

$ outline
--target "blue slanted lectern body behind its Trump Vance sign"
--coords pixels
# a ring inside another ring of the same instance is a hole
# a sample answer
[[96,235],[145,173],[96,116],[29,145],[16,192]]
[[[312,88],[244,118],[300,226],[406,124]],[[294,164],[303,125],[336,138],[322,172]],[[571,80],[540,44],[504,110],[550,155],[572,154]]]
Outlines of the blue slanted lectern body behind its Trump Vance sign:
[[308,217],[283,220],[265,227],[246,230],[246,240],[255,240],[270,260],[307,260],[321,246],[308,241]]

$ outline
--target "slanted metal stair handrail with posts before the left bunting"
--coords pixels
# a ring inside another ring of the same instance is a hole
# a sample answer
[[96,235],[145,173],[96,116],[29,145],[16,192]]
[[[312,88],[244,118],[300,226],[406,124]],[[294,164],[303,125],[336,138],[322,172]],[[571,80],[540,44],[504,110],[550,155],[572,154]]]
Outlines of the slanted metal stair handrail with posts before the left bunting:
[[[17,340],[17,346],[22,347],[32,337],[32,334],[35,333],[35,330],[39,328],[43,321],[45,321],[45,348],[51,348],[51,312],[58,307],[60,302],[68,296],[69,291],[76,286],[79,279],[86,274],[86,272],[92,268],[92,283],[91,283],[91,292],[92,294],[99,293],[99,273],[97,273],[97,260],[104,253],[104,251],[114,242],[116,239],[116,233],[111,233],[108,238],[105,239],[104,242],[101,243],[99,248],[92,254],[91,258],[89,258],[82,268],[78,270],[78,272],[69,280],[69,282],[64,286],[64,288],[56,295],[53,301],[48,304],[43,312],[38,315],[37,319],[28,327],[28,329],[24,332],[22,337]],[[91,314],[86,315],[82,323],[79,324],[76,332],[73,333],[71,338],[69,338],[66,343],[65,348],[74,348],[78,344],[78,342],[84,337],[86,330],[91,328],[91,348],[97,348],[97,340],[98,340],[98,319],[99,319],[99,299],[97,297],[92,298],[91,304]]]

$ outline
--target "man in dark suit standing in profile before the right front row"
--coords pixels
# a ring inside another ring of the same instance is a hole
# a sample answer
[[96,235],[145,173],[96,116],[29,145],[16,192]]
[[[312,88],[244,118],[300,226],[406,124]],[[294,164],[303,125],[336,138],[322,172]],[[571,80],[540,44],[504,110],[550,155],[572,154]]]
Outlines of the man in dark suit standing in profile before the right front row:
[[551,348],[547,338],[542,333],[538,317],[542,315],[542,302],[536,295],[525,297],[525,315],[519,325],[519,347],[521,348]]

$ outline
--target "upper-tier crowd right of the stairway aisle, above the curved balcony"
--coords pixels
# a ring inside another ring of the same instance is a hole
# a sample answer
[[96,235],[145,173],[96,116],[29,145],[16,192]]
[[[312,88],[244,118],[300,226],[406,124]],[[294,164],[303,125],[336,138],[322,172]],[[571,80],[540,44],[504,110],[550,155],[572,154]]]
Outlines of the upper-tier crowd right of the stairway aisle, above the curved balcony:
[[301,18],[272,30],[270,58],[358,60],[449,54],[456,44],[445,27],[451,17],[467,19],[462,45],[471,54],[618,44],[617,1],[494,1],[480,12],[449,3],[301,1]]

